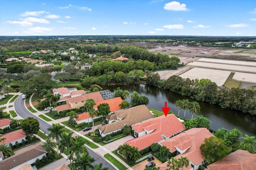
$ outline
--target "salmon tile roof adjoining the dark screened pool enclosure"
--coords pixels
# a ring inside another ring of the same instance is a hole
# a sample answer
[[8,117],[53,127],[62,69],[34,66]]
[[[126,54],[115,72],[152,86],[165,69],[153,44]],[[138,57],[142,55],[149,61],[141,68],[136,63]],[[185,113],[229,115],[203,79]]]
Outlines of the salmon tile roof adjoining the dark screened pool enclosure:
[[74,102],[86,101],[87,99],[93,99],[95,103],[104,100],[102,98],[100,92],[92,92],[92,93],[82,94],[81,96],[77,96],[74,98],[70,98],[70,99],[66,100],[66,102],[74,103]]

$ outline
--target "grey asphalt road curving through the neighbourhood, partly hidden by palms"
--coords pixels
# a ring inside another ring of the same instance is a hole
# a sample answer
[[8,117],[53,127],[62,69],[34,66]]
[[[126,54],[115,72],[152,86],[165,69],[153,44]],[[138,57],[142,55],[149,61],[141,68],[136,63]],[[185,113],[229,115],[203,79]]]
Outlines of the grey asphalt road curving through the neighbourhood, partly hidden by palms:
[[[15,107],[16,113],[18,113],[18,115],[20,115],[24,119],[29,116],[34,117],[35,119],[38,119],[38,121],[40,123],[40,130],[46,134],[50,133],[47,130],[47,128],[51,127],[51,125],[49,125],[42,119],[38,118],[37,116],[33,115],[32,113],[30,113],[24,106],[24,100],[22,100],[21,95],[15,100],[14,107]],[[95,159],[95,162],[93,162],[93,164],[100,164],[100,162],[102,162],[104,167],[109,167],[109,170],[116,170],[116,168],[114,168],[108,161],[106,161],[104,158],[102,158],[102,156],[100,156],[98,153],[92,151],[92,149],[90,149],[88,147],[86,147],[86,149],[88,150],[90,155]]]

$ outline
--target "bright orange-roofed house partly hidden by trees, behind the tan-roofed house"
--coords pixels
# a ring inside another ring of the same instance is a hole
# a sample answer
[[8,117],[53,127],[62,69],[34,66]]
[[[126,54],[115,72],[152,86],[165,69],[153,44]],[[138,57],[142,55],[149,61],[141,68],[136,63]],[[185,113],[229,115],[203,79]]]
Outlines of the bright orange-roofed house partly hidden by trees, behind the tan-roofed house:
[[[120,105],[122,103],[122,98],[118,97],[118,98],[112,98],[112,99],[108,99],[108,100],[103,100],[103,101],[100,101],[100,102],[97,102],[96,105],[94,105],[94,109],[98,109],[98,106],[100,104],[103,104],[103,103],[106,103],[109,105],[110,107],[110,113],[109,114],[112,114],[114,111],[119,111],[121,110]],[[101,116],[96,116],[94,117],[94,119],[97,119]],[[89,122],[92,122],[92,118],[89,116],[89,113],[88,112],[85,112],[85,113],[82,113],[82,114],[79,114],[78,115],[78,118],[76,118],[76,123],[79,124],[79,123],[83,123],[83,122],[86,122],[86,123],[89,123]]]

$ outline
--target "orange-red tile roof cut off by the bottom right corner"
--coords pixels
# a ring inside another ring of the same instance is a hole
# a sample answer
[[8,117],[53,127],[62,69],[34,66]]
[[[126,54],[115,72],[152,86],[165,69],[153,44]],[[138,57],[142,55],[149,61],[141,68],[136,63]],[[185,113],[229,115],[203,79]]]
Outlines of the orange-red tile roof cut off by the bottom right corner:
[[207,166],[209,170],[256,170],[256,154],[236,150]]

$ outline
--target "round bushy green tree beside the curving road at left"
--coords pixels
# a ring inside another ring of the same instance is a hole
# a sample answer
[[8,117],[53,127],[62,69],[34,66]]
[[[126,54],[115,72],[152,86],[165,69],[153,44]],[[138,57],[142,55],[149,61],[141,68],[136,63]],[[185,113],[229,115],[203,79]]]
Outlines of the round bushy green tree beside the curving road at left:
[[20,128],[32,139],[32,135],[37,134],[40,129],[39,121],[33,117],[27,117],[22,121]]

